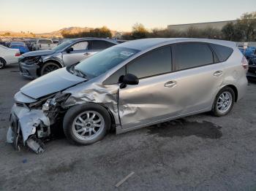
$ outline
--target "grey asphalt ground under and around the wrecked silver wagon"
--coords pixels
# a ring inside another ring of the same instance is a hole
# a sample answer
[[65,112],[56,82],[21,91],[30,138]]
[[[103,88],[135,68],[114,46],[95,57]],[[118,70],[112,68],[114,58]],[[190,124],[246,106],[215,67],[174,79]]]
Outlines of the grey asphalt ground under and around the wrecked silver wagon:
[[29,80],[18,66],[0,77],[0,190],[256,190],[254,83],[227,117],[200,114],[110,133],[87,147],[61,137],[36,155],[5,143],[12,97]]

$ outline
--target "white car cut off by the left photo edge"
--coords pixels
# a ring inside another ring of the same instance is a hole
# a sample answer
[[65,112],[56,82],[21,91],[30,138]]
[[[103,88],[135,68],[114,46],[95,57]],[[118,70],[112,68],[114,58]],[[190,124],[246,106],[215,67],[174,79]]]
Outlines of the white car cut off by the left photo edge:
[[0,45],[0,69],[12,63],[18,63],[20,50],[4,47]]

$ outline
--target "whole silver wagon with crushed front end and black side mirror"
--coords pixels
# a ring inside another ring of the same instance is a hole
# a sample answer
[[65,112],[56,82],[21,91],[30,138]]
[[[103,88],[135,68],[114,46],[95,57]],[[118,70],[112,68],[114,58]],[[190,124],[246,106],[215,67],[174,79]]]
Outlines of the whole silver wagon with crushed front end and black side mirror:
[[234,42],[140,39],[53,71],[15,94],[7,141],[34,152],[63,124],[73,144],[211,111],[228,114],[246,93],[248,63]]

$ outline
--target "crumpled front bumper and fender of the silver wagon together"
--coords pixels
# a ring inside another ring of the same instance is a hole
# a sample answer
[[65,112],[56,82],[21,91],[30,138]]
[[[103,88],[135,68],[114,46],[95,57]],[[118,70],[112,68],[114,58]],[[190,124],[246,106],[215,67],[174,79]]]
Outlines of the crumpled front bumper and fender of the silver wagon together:
[[113,117],[113,125],[120,126],[118,94],[119,85],[105,86],[84,82],[48,98],[42,104],[42,109],[29,109],[15,104],[12,107],[7,141],[18,149],[18,140],[23,139],[24,145],[36,153],[41,153],[44,147],[40,139],[50,136],[50,125],[62,119],[59,115],[63,116],[70,107],[86,103],[105,106]]

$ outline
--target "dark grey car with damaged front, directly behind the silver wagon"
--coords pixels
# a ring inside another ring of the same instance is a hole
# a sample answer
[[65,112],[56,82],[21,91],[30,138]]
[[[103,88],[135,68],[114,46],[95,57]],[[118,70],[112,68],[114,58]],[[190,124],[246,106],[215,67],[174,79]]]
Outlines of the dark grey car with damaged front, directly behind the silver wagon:
[[116,44],[118,42],[110,39],[70,39],[52,50],[28,52],[20,56],[20,74],[32,79],[37,78],[50,71],[78,63]]

